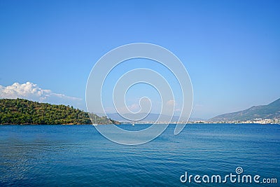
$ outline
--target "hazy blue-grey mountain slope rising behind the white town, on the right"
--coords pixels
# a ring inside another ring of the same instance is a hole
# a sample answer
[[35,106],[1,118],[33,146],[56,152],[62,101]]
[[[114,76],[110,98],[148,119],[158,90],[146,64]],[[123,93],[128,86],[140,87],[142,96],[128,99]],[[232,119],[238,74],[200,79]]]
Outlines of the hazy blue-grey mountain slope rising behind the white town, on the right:
[[252,106],[250,109],[244,111],[237,111],[233,113],[225,113],[220,116],[209,119],[209,121],[244,121],[244,120],[254,120],[255,118],[262,119],[274,119],[280,118],[280,98],[276,101],[260,106]]

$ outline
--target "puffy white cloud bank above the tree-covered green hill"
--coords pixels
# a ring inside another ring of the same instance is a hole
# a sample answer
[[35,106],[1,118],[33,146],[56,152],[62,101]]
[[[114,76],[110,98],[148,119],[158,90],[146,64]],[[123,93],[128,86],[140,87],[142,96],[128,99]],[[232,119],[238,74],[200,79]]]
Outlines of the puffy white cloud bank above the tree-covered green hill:
[[66,104],[80,106],[82,99],[69,97],[61,93],[55,93],[51,90],[44,90],[35,83],[13,83],[13,85],[0,85],[0,98],[6,99],[29,99],[36,102],[50,102],[52,104]]

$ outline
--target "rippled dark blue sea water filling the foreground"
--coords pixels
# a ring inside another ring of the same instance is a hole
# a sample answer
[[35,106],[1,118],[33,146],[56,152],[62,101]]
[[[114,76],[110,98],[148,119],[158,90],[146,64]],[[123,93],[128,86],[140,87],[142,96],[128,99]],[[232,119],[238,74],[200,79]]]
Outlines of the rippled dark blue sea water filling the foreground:
[[[123,146],[92,125],[1,125],[0,186],[280,186],[280,125],[187,125],[176,136],[174,127]],[[237,167],[278,183],[180,181]]]

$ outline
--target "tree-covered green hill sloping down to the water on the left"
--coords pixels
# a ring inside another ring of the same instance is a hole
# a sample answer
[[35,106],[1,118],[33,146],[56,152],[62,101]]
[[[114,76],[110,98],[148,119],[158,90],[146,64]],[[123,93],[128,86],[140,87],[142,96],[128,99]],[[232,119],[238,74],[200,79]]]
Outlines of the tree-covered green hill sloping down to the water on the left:
[[[94,114],[90,114],[93,115]],[[116,121],[97,116],[97,124],[112,124]],[[0,99],[0,124],[91,124],[85,111],[73,106],[32,102],[27,99]]]

